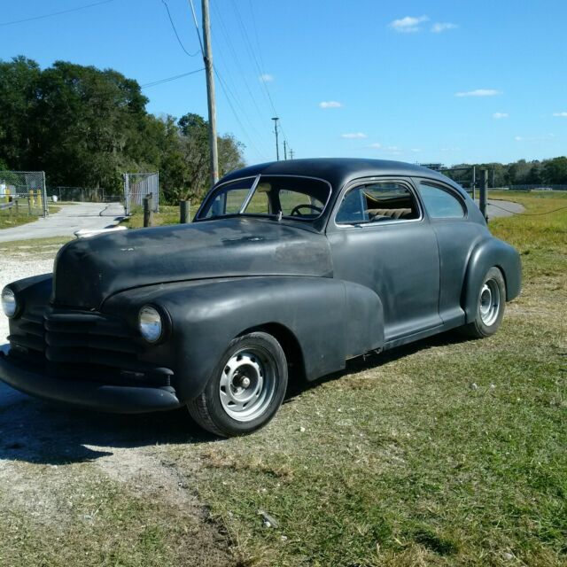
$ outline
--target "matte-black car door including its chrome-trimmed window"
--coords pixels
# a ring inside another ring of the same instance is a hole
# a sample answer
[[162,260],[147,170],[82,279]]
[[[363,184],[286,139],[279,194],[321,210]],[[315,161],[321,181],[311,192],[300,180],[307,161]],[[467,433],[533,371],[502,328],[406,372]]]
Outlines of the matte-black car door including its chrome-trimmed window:
[[437,240],[408,180],[347,188],[327,236],[334,276],[382,300],[386,342],[441,324]]

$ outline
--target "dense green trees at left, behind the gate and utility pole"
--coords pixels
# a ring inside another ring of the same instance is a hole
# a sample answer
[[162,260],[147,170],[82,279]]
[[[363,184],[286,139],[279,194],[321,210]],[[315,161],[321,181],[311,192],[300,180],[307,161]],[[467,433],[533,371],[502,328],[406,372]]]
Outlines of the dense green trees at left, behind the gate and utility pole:
[[[120,191],[126,171],[157,171],[166,201],[209,186],[208,124],[145,109],[140,85],[113,69],[0,60],[0,169],[44,171],[49,185]],[[218,136],[221,175],[245,165],[244,145]]]

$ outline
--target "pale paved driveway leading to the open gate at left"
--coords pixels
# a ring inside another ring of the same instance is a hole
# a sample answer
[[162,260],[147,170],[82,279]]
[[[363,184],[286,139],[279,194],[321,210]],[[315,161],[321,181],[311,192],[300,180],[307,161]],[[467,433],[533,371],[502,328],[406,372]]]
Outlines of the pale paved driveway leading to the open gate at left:
[[0,242],[30,238],[72,237],[80,229],[106,229],[118,224],[124,216],[120,203],[74,203],[63,205],[58,213],[0,230]]

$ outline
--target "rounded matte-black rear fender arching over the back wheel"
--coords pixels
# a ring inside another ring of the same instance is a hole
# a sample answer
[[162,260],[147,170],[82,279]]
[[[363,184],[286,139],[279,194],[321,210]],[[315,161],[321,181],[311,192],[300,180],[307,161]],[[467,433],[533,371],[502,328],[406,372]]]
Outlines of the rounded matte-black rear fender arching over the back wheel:
[[462,306],[466,322],[471,322],[477,315],[478,291],[482,286],[486,272],[495,266],[500,268],[506,282],[506,300],[516,298],[522,287],[522,266],[516,248],[490,237],[482,240],[470,254],[465,275]]

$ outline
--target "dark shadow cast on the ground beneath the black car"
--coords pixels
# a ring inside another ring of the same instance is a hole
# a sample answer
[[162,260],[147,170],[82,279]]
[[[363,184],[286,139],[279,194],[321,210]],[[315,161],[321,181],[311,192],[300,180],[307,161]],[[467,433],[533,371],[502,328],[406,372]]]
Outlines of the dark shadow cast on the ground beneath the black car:
[[[315,382],[291,381],[284,403],[302,392],[346,374],[379,368],[426,348],[464,338],[445,333],[386,353],[348,361],[346,369]],[[194,423],[185,408],[142,415],[113,415],[43,402],[0,383],[0,461],[66,464],[94,461],[113,448],[150,447],[214,441]]]

